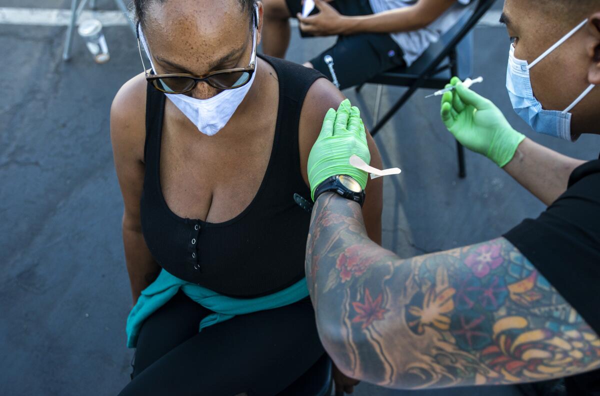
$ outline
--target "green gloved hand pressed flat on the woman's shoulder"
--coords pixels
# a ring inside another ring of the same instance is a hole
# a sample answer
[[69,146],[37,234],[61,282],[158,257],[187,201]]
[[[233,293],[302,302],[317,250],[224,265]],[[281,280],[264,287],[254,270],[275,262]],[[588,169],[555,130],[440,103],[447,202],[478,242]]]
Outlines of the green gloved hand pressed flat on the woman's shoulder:
[[371,161],[361,112],[358,107],[350,107],[350,101],[346,99],[340,103],[337,112],[329,109],[321,133],[308,155],[308,181],[313,200],[317,186],[335,175],[352,177],[364,190],[367,172],[350,165],[352,155],[358,155],[367,164]]

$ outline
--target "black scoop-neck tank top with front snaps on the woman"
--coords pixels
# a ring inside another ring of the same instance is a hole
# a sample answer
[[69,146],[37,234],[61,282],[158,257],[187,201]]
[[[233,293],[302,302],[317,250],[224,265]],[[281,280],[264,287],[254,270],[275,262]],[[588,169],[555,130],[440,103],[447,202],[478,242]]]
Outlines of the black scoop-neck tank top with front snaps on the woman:
[[269,56],[279,103],[271,157],[254,199],[224,223],[181,218],[160,187],[160,146],[165,95],[146,91],[146,172],[140,215],[143,236],[158,264],[182,280],[239,298],[267,295],[304,277],[310,214],[293,194],[310,197],[300,173],[298,122],[302,103],[318,71]]

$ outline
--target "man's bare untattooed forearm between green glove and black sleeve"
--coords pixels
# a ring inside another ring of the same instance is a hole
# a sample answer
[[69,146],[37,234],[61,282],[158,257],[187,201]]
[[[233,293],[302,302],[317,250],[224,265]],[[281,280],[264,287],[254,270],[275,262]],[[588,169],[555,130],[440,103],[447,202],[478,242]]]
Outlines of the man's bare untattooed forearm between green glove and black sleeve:
[[550,205],[566,191],[569,176],[584,162],[525,139],[503,169],[545,205]]

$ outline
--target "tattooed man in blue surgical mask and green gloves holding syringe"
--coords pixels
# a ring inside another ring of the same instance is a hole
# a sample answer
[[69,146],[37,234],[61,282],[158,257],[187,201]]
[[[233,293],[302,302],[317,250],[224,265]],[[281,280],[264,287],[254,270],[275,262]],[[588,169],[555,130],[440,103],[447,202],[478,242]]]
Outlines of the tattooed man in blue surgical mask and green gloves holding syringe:
[[[600,134],[600,2],[506,0],[502,21],[515,111],[561,139]],[[358,109],[329,110],[308,160],[316,203],[306,272],[321,340],[347,376],[390,388],[568,377],[568,394],[595,394],[600,160],[526,139],[491,101],[451,83],[441,109],[448,130],[547,210],[500,238],[400,259],[365,233],[367,174],[347,164],[370,160]]]

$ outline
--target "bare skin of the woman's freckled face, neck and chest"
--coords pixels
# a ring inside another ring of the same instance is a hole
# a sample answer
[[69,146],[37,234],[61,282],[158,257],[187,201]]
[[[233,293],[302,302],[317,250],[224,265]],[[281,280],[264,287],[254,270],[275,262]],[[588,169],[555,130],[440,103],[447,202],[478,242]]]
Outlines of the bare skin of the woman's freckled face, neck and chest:
[[[209,71],[246,67],[252,52],[251,18],[238,0],[152,2],[143,29],[157,73],[189,72],[201,77]],[[257,42],[260,28],[259,24]],[[239,55],[211,70],[211,64],[235,49]],[[271,152],[278,84],[271,77],[271,66],[256,61],[253,85],[215,136],[199,133],[172,102],[165,103],[161,188],[169,208],[181,217],[215,223],[229,220],[250,204],[258,190]],[[190,95],[205,99],[219,92],[201,82]]]

